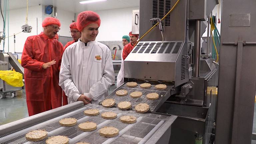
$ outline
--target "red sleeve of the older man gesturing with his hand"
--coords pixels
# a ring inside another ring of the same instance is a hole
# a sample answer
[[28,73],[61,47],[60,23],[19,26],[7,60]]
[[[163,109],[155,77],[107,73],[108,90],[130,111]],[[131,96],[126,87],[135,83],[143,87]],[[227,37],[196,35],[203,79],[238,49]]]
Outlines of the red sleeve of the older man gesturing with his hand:
[[42,70],[42,65],[44,64],[44,62],[33,59],[34,56],[32,43],[33,38],[28,37],[22,52],[21,66],[32,71],[40,71]]

